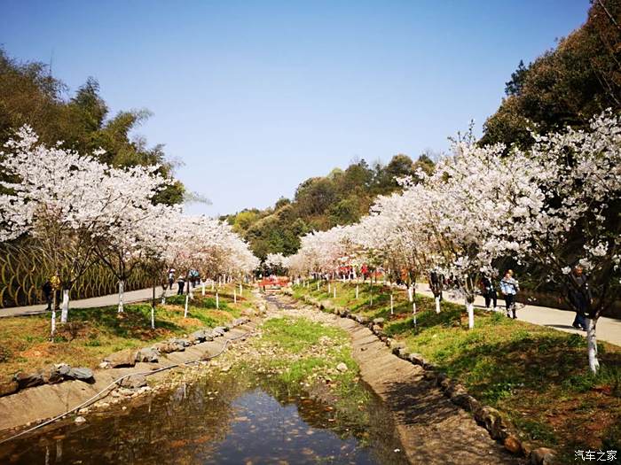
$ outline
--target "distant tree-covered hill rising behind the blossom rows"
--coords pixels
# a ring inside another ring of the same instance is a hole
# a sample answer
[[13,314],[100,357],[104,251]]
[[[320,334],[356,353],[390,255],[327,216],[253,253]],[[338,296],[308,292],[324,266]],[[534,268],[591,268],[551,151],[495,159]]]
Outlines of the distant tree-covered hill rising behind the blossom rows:
[[427,172],[434,163],[427,154],[415,162],[398,154],[387,165],[364,159],[342,170],[334,168],[323,177],[302,182],[293,199],[280,198],[265,210],[256,208],[222,217],[250,243],[255,255],[264,259],[268,253],[295,253],[300,236],[312,230],[326,230],[351,224],[369,211],[373,199],[399,189],[396,177],[413,174],[419,167]]

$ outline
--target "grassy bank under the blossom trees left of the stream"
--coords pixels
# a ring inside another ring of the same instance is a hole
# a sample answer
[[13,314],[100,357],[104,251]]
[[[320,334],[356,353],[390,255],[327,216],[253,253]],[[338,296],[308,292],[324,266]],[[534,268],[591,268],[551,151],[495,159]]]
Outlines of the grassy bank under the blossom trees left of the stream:
[[138,348],[169,337],[183,337],[196,329],[215,327],[239,317],[242,309],[252,306],[246,288],[244,298],[233,303],[232,286],[219,294],[220,308],[212,293],[200,295],[200,288],[188,306],[184,318],[185,296],[166,299],[155,311],[155,329],[151,329],[151,305],[126,305],[122,314],[116,306],[70,308],[69,322],[58,325],[50,340],[50,315],[0,318],[0,381],[19,371],[35,371],[51,363],[94,368],[109,353]]

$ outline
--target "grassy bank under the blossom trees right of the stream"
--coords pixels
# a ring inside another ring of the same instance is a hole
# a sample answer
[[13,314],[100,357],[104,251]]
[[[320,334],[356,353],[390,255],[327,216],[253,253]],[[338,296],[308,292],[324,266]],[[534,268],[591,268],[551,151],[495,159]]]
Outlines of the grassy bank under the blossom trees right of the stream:
[[[296,287],[294,297],[329,299],[369,318],[386,319],[384,330],[415,353],[433,361],[484,404],[514,422],[524,439],[564,453],[575,448],[619,447],[621,438],[621,348],[599,343],[601,371],[587,366],[586,339],[476,309],[468,329],[463,306],[442,303],[436,314],[431,298],[417,296],[417,324],[405,291],[337,284],[337,298],[326,286]],[[394,296],[390,314],[389,294]],[[519,316],[519,315],[518,315]],[[568,318],[570,315],[568,314]],[[568,452],[569,451],[569,452]]]

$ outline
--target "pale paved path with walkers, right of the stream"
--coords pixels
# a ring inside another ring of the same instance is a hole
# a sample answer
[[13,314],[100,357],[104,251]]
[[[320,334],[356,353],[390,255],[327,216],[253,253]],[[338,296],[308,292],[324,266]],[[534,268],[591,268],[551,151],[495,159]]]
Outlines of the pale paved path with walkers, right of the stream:
[[[419,284],[416,292],[433,297],[433,293],[429,290],[427,284]],[[462,300],[452,297],[450,291],[445,291],[443,297],[450,302],[463,303]],[[482,296],[476,296],[475,305],[484,308],[485,299]],[[503,312],[505,311],[505,301],[502,298],[498,299],[498,306]],[[518,304],[517,319],[569,333],[586,335],[584,331],[574,329],[571,326],[571,323],[574,321],[574,313],[569,310],[559,310],[558,308],[548,308],[546,306],[521,306]],[[601,316],[597,322],[597,338],[614,345],[621,345],[621,320]]]

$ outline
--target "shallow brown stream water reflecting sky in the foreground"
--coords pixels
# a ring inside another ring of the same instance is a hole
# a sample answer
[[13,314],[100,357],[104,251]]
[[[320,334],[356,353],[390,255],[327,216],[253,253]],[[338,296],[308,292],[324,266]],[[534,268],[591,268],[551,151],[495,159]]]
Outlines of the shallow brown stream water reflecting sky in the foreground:
[[204,378],[0,445],[0,463],[405,464],[381,400],[334,409],[271,379]]

